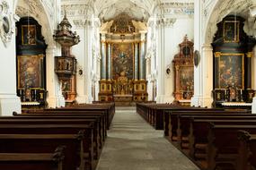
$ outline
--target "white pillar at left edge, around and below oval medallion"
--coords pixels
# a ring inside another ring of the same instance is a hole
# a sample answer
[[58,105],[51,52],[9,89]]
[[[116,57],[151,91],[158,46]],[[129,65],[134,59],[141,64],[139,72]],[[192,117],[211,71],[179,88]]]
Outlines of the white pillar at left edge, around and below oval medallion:
[[[8,14],[12,13],[13,1],[5,2],[9,5]],[[13,14],[10,14],[10,16],[12,19],[12,31],[14,32],[14,16]],[[13,111],[21,113],[21,100],[16,96],[16,51],[14,34],[6,46],[0,38],[0,51],[0,115],[12,115]]]

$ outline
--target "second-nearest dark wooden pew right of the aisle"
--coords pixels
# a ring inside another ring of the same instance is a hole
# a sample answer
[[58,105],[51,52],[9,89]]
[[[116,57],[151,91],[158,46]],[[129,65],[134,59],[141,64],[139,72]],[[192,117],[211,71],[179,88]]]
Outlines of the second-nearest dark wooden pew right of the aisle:
[[239,147],[237,131],[256,133],[256,125],[208,123],[207,126],[207,170],[235,169]]

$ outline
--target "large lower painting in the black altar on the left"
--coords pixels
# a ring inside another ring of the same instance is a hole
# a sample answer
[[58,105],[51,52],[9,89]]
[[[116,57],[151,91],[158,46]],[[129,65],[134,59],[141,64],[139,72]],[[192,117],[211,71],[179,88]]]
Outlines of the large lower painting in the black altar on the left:
[[20,55],[18,89],[43,88],[43,55]]

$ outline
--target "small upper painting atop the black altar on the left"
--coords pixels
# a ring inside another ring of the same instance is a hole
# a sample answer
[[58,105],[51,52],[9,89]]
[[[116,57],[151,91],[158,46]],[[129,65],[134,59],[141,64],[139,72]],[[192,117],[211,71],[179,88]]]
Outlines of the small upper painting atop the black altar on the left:
[[22,25],[22,45],[36,45],[35,25]]

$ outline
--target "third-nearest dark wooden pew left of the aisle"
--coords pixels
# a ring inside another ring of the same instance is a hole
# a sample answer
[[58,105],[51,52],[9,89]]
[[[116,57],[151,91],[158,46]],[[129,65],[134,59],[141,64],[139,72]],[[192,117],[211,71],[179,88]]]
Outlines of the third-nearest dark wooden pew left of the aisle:
[[76,134],[84,131],[84,169],[93,169],[93,123],[87,124],[0,124],[0,134]]

